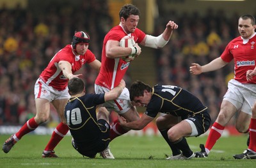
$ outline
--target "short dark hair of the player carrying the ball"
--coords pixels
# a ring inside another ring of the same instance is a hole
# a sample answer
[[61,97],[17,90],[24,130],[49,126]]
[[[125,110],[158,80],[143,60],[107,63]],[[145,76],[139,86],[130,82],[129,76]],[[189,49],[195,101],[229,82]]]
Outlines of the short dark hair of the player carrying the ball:
[[123,17],[126,20],[130,15],[140,16],[140,10],[133,4],[125,4],[119,11],[119,18],[121,20],[121,17]]

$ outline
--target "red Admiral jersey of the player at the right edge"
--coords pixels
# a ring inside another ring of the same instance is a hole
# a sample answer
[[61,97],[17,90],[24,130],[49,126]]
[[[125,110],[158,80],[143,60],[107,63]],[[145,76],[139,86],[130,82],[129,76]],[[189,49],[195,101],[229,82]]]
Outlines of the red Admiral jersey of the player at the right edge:
[[[234,79],[241,83],[256,84],[256,78],[253,78],[253,80],[250,81],[246,80],[246,71],[255,68],[255,34],[249,40],[242,39],[241,36],[233,39],[230,41],[230,43],[228,43],[224,52],[221,54],[221,59],[223,59],[225,62],[230,62],[232,59],[234,59]],[[246,41],[248,42],[246,43]]]

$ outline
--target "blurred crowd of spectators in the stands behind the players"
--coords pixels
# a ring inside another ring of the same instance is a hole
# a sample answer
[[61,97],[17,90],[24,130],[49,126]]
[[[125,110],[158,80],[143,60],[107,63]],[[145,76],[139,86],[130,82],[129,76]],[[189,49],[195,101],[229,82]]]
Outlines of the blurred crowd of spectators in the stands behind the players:
[[[76,8],[52,4],[42,11],[22,9],[19,4],[13,10],[0,9],[0,125],[21,125],[35,116],[35,81],[54,54],[71,43],[74,31],[88,32],[89,49],[100,60],[103,38],[112,27],[108,5],[103,3],[84,1]],[[192,62],[204,65],[220,57],[227,43],[239,36],[239,15],[227,17],[224,11],[211,9],[204,17],[196,11],[193,15],[159,11],[155,35],[163,32],[170,19],[179,29],[168,45],[154,53],[157,83],[188,89],[208,106],[214,122],[227,91],[227,81],[234,76],[234,64],[198,76],[189,74],[189,66]],[[84,66],[79,73],[83,73],[86,81],[86,92],[93,93],[97,72]],[[52,122],[59,122],[53,108],[51,121],[46,124]]]

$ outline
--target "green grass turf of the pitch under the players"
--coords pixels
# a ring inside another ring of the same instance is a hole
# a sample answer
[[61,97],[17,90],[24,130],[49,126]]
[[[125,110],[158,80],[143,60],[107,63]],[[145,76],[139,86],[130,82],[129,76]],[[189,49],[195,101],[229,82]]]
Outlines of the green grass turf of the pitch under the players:
[[[0,135],[0,143],[9,136]],[[41,158],[42,150],[50,136],[22,137],[19,143],[8,153],[0,151],[0,167],[255,167],[256,160],[235,160],[232,155],[246,149],[246,136],[221,137],[208,158],[192,160],[165,160],[170,149],[159,136],[122,136],[111,142],[111,151],[115,160],[83,158],[73,149],[71,137],[66,136],[55,149],[59,158]],[[188,143],[193,151],[199,150],[199,144],[205,143],[206,137],[189,137]]]

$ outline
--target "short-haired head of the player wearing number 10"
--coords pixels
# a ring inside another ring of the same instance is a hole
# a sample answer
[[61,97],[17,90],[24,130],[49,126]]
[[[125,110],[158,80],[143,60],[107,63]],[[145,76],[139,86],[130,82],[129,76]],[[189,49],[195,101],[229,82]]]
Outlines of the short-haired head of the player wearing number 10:
[[80,78],[72,78],[68,81],[68,92],[70,95],[80,94],[84,90],[84,81]]

